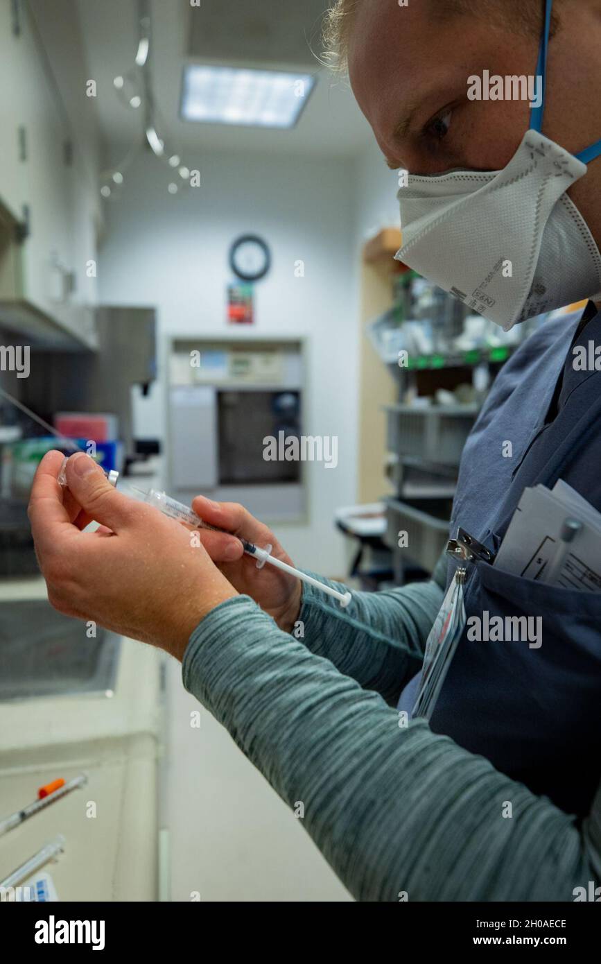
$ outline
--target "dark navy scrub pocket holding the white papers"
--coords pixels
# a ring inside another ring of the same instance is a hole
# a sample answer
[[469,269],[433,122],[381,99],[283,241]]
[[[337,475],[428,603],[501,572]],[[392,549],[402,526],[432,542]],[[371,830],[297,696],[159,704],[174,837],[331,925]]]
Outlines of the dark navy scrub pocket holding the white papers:
[[586,816],[601,776],[601,593],[476,562],[465,611],[432,731]]

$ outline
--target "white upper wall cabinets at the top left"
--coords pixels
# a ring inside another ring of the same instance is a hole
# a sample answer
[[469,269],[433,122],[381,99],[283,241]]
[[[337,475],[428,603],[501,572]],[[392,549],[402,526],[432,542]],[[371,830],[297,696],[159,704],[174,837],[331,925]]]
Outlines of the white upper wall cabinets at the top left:
[[[78,149],[60,91],[26,4],[17,4],[13,29],[11,0],[0,0],[0,112],[4,147],[0,151],[0,199],[26,226],[26,238],[13,250],[17,270],[0,291],[0,320],[18,308],[19,327],[28,311],[39,329],[40,316],[53,327],[93,347],[95,287],[88,265],[95,261],[91,193],[73,163]],[[11,290],[11,287],[13,290]],[[33,331],[33,327],[32,327]]]

